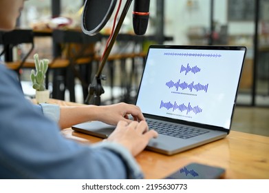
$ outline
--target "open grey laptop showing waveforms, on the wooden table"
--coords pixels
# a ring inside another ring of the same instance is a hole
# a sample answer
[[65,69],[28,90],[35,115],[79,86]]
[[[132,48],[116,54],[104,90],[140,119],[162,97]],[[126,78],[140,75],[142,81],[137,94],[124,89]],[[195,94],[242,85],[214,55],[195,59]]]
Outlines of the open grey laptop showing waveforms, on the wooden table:
[[[245,56],[244,46],[150,45],[136,99],[159,133],[147,150],[173,155],[224,139]],[[101,138],[114,128],[99,121],[72,127]]]

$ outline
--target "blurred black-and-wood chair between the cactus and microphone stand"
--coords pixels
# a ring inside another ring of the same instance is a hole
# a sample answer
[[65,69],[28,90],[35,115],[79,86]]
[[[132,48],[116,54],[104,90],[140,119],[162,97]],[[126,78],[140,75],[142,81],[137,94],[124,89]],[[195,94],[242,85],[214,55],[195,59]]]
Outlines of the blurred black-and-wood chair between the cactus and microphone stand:
[[[54,60],[51,67],[58,60],[67,61],[68,65],[63,68],[55,69],[53,75],[52,97],[62,99],[65,90],[69,90],[70,101],[75,99],[75,78],[80,80],[83,86],[84,98],[87,96],[89,82],[92,81],[92,62],[94,61],[94,45],[100,41],[100,36],[89,37],[83,32],[76,30],[54,30],[52,32],[54,42]],[[61,85],[63,89],[59,89]]]

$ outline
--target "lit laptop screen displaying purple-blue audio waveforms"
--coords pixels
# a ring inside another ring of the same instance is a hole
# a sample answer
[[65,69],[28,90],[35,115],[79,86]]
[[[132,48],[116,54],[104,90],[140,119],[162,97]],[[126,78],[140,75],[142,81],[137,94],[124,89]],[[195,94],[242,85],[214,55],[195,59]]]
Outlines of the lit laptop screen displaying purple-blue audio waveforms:
[[136,105],[144,114],[230,129],[245,47],[151,45]]

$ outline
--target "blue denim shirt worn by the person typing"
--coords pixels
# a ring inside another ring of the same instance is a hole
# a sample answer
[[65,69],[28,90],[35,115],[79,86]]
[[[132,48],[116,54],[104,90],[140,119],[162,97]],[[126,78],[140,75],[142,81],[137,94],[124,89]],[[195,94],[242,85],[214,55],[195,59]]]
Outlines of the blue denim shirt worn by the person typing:
[[17,74],[1,64],[0,73],[0,179],[143,177],[122,145],[66,139],[56,123],[59,107],[33,105],[25,99]]

